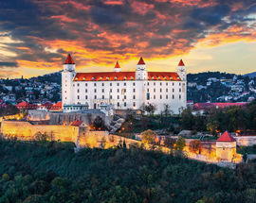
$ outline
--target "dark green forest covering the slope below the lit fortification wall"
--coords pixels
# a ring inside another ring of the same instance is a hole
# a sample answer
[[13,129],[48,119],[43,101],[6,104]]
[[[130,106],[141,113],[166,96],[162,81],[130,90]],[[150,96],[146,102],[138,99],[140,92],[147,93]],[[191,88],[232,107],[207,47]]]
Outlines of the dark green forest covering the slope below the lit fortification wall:
[[235,170],[132,146],[0,142],[1,203],[255,202],[256,164]]

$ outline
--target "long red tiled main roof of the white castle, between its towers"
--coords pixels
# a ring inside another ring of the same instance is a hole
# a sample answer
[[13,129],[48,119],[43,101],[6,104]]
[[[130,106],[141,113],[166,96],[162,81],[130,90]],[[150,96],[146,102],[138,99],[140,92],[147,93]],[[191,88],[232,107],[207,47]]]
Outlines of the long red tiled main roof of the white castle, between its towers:
[[[135,72],[77,73],[73,81],[135,80]],[[149,80],[181,80],[175,72],[148,72]]]

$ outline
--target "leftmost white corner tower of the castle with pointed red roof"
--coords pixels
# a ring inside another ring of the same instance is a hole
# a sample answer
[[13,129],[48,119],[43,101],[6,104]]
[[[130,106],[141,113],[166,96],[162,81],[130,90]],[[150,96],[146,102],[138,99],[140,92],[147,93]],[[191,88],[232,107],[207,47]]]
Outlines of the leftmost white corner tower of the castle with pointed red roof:
[[64,61],[64,71],[62,73],[62,104],[73,104],[73,86],[72,81],[76,76],[76,64],[71,55],[68,54]]

